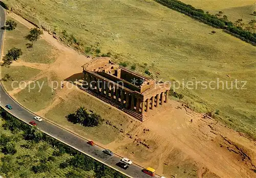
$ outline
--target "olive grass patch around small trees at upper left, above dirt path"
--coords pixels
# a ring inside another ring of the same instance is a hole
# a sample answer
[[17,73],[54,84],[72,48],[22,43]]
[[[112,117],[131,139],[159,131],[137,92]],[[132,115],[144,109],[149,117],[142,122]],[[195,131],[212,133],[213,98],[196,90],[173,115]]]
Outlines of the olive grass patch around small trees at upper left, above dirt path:
[[[7,18],[12,19],[12,18]],[[12,19],[14,20],[14,19]],[[14,20],[16,21],[16,20]],[[19,58],[25,62],[38,62],[38,63],[52,63],[54,62],[54,57],[50,54],[53,52],[53,47],[45,40],[38,39],[34,45],[33,49],[29,51],[26,47],[26,43],[29,43],[24,36],[29,34],[30,29],[28,29],[23,24],[16,21],[17,28],[12,31],[6,31],[5,41],[4,41],[4,54],[7,53],[11,48],[22,49],[23,55]]]

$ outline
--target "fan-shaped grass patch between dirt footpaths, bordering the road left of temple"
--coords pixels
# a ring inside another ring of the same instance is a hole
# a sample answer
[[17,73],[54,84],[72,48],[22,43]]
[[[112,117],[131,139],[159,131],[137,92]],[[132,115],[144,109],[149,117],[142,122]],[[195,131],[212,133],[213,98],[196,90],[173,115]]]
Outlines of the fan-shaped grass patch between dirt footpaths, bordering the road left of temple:
[[52,92],[52,88],[45,77],[31,83],[30,86],[28,85],[14,96],[23,106],[37,112],[50,105],[55,93]]

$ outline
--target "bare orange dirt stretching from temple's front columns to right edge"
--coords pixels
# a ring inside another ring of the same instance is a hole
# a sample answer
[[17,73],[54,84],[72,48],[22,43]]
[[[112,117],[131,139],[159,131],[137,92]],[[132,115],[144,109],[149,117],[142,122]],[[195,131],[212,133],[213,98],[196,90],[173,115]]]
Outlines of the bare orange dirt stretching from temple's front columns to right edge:
[[[188,159],[195,162],[198,176],[203,177],[204,174],[213,172],[220,177],[255,177],[252,171],[256,169],[255,142],[215,120],[203,119],[202,115],[190,109],[186,109],[187,112],[182,106],[182,109],[177,109],[179,104],[170,101],[164,111],[155,114],[131,132],[133,138],[156,141],[158,148],[153,153],[148,152],[149,158],[154,159],[144,161],[140,154],[135,156],[131,150],[121,150],[125,145],[134,145],[134,139],[129,137],[122,142],[110,143],[108,147],[134,159],[140,165],[153,166],[159,174],[165,173],[164,162],[177,161],[170,159],[170,152],[174,149],[179,150],[182,155],[180,157],[184,158],[182,161]],[[193,122],[190,122],[191,119]],[[144,128],[150,129],[150,132],[144,133]],[[156,162],[156,159],[159,161]]]

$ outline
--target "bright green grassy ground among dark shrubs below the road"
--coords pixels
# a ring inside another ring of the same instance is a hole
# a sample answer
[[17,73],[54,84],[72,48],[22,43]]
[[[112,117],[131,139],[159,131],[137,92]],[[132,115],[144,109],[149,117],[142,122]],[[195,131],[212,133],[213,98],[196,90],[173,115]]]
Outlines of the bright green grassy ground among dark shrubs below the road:
[[[73,167],[59,168],[59,164],[72,158],[71,155],[65,153],[59,157],[54,157],[54,161],[49,161],[51,170],[42,173],[34,173],[31,168],[39,164],[40,160],[48,159],[55,150],[45,142],[35,143],[30,148],[24,148],[22,145],[28,144],[30,141],[23,139],[23,131],[11,132],[2,127],[4,121],[0,118],[0,137],[4,134],[12,138],[15,143],[17,152],[13,155],[0,152],[0,159],[9,158],[8,164],[3,165],[0,161],[0,174],[4,177],[65,177],[66,173],[73,170]],[[82,171],[86,177],[94,177],[93,171]]]

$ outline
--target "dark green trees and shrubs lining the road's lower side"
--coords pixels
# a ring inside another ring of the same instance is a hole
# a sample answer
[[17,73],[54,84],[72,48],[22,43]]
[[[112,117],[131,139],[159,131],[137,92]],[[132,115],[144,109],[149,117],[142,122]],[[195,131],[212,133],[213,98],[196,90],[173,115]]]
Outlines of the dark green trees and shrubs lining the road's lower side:
[[[94,159],[87,157],[86,155],[80,153],[79,151],[75,150],[74,148],[71,148],[52,137],[46,135],[45,133],[42,133],[40,130],[36,129],[36,127],[31,127],[28,124],[18,120],[17,118],[13,117],[9,113],[7,113],[3,108],[0,108],[0,116],[5,120],[5,124],[3,125],[6,129],[11,130],[12,132],[17,132],[18,130],[23,130],[24,135],[23,138],[26,140],[30,140],[29,143],[32,144],[36,142],[40,142],[43,140],[44,142],[48,143],[54,148],[57,148],[58,150],[53,152],[53,157],[49,157],[46,160],[40,160],[40,163],[36,166],[32,167],[32,170],[35,173],[40,172],[47,172],[50,167],[51,161],[54,161],[54,157],[62,155],[63,153],[68,153],[72,155],[73,157],[70,160],[67,160],[66,162],[63,162],[59,165],[61,169],[66,168],[68,166],[72,166],[74,168],[73,171],[69,171],[66,174],[66,177],[84,177],[81,174],[80,170],[84,171],[90,171],[93,170],[95,172],[95,177],[116,177],[121,178],[125,177],[121,173],[115,171],[114,169],[105,166],[104,164],[95,161]],[[22,145],[26,148],[30,148],[31,144]],[[5,145],[5,146],[3,146]],[[1,135],[0,137],[0,146],[3,146],[3,149],[6,154],[15,154],[15,144],[12,142],[12,139],[8,136]],[[44,148],[42,148],[44,149]],[[8,160],[6,160],[8,161]],[[6,161],[2,161],[5,163]],[[6,164],[7,165],[7,164]],[[0,170],[3,169],[5,164],[2,164],[2,167],[0,167]],[[9,169],[9,168],[8,168]]]

